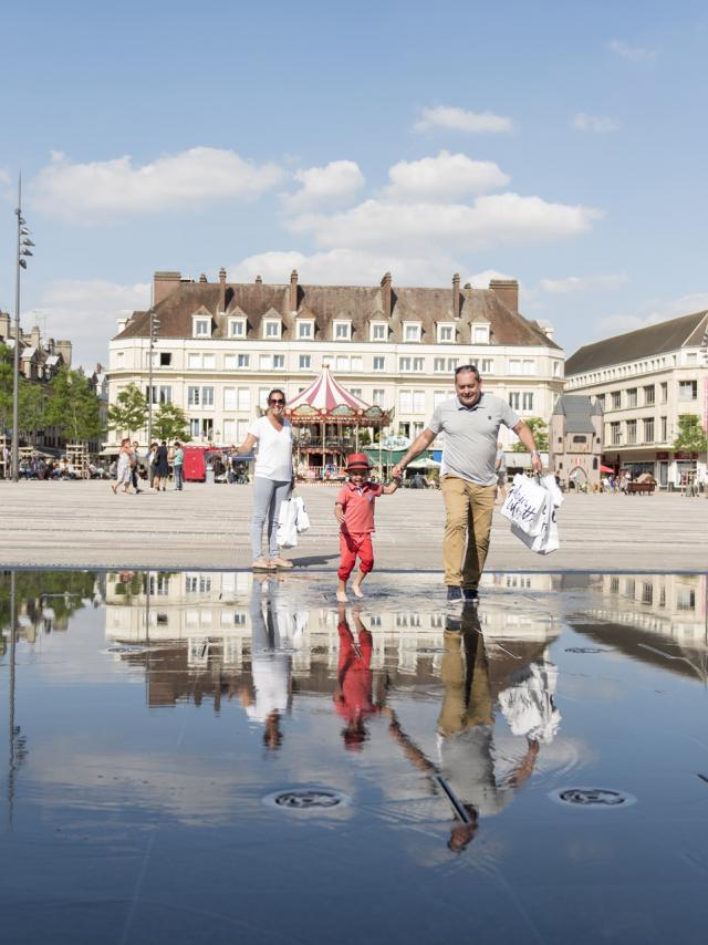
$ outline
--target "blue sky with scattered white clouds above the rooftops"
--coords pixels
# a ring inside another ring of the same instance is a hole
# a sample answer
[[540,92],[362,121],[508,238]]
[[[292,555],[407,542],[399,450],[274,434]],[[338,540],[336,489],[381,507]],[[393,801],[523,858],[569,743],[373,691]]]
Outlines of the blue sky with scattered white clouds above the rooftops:
[[2,25],[0,308],[22,169],[23,324],[86,365],[156,269],[500,273],[569,354],[708,305],[704,3],[38,0]]

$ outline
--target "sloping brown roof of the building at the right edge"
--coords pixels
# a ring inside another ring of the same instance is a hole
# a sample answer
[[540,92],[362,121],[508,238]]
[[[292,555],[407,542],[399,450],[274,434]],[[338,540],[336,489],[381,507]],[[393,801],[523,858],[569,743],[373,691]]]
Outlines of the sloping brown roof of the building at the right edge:
[[565,376],[584,374],[638,357],[652,357],[684,345],[699,345],[707,324],[708,312],[702,311],[585,344],[565,362]]

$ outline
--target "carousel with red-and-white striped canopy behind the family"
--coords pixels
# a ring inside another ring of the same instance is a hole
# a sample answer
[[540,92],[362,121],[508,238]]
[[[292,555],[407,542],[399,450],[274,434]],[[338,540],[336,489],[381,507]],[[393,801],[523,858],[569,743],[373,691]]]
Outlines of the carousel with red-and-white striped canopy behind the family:
[[[339,384],[329,367],[306,390],[288,402],[285,416],[293,426],[295,467],[301,479],[337,479],[346,455],[360,448],[362,430],[391,424],[392,412],[369,407]],[[362,437],[363,439],[363,437]]]

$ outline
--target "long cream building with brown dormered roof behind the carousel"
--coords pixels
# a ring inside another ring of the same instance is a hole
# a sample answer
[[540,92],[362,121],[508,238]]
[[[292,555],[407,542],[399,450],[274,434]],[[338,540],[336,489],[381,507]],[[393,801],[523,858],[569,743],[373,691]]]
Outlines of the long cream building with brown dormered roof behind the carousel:
[[[274,386],[293,397],[327,364],[368,404],[395,411],[392,433],[415,436],[450,396],[458,364],[472,362],[486,388],[521,416],[551,415],[563,387],[563,351],[551,329],[519,313],[519,287],[489,289],[227,283],[156,272],[153,401],[189,418],[194,442],[239,443]],[[111,342],[110,402],[126,385],[147,393],[149,313],[134,312]],[[119,432],[112,434],[117,437]],[[144,438],[145,435],[143,435]],[[514,439],[510,434],[510,439]]]

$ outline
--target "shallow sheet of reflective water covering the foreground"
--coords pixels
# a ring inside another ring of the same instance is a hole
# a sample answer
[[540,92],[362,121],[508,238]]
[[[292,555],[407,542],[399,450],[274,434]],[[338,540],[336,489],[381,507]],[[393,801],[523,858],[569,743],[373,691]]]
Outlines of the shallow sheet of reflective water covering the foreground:
[[708,584],[0,573],[8,943],[705,942]]

